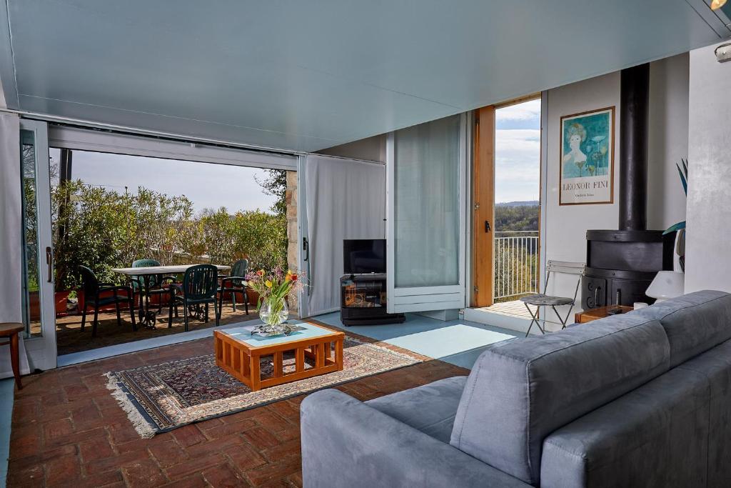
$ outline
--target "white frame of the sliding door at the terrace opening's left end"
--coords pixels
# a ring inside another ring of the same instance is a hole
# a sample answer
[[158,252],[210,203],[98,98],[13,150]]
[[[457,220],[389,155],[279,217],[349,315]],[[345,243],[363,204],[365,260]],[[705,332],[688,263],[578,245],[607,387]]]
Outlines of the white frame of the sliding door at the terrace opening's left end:
[[[20,130],[34,133],[35,179],[38,240],[38,295],[41,319],[41,337],[23,339],[32,369],[53,369],[57,364],[56,351],[56,285],[53,281],[53,228],[50,212],[50,168],[48,165],[48,124],[43,121],[20,119]],[[20,140],[18,141],[20,144]],[[21,153],[22,157],[22,153]],[[18,161],[21,164],[21,161]],[[22,170],[22,169],[21,169]],[[23,184],[22,180],[20,184]],[[25,202],[23,203],[23,208]],[[23,247],[25,243],[23,242]],[[45,249],[50,249],[47,255]],[[25,251],[25,250],[24,250]],[[44,262],[44,259],[50,261]],[[26,272],[23,263],[23,273]],[[26,293],[26,290],[23,290]],[[25,311],[23,312],[25,314]]]

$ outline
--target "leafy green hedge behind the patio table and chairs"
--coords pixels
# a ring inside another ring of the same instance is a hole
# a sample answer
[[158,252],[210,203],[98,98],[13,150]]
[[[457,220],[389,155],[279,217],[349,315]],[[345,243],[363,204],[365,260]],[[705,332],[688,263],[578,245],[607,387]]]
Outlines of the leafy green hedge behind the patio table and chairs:
[[121,282],[112,268],[153,258],[163,265],[232,264],[248,257],[251,266],[273,269],[287,261],[284,216],[226,209],[194,216],[184,195],[169,196],[140,187],[137,193],[64,181],[51,189],[56,288],[81,285],[77,269],[89,266],[102,282]]

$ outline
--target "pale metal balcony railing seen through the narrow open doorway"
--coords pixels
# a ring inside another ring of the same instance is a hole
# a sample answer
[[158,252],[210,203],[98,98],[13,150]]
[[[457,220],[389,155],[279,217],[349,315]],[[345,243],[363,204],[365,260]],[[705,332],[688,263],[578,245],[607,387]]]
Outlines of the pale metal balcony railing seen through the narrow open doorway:
[[539,293],[537,230],[495,233],[495,301]]

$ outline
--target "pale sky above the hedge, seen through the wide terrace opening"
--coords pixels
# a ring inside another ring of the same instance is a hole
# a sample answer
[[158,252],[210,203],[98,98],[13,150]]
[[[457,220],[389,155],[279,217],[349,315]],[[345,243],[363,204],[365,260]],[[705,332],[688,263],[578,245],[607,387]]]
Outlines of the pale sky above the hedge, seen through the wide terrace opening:
[[[61,151],[51,149],[51,162],[58,163]],[[270,211],[275,198],[265,195],[254,180],[265,179],[259,168],[216,165],[154,157],[73,151],[72,179],[124,193],[143,186],[167,195],[186,195],[196,212],[224,206],[230,214],[239,210]]]

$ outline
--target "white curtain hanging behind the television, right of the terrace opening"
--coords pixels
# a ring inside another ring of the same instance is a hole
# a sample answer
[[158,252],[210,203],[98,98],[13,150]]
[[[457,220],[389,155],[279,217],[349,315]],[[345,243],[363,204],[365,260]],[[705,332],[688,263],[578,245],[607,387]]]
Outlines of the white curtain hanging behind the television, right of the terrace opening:
[[308,315],[340,309],[344,239],[384,239],[385,165],[326,156],[305,161]]

